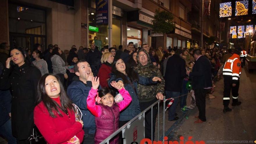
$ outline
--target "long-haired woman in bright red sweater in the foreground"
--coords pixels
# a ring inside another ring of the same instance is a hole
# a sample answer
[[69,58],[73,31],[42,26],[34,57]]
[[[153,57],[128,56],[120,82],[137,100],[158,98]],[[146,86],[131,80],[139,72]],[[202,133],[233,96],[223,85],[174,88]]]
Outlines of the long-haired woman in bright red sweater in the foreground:
[[83,121],[76,121],[74,106],[56,74],[45,74],[39,80],[37,103],[34,122],[47,143],[82,143]]

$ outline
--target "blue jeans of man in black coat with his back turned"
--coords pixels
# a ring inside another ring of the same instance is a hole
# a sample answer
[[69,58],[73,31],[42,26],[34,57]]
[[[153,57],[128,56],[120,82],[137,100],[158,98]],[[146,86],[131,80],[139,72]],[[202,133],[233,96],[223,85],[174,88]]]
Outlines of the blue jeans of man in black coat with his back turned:
[[[165,91],[165,93],[166,93],[166,99],[178,97],[180,94],[180,92],[171,92],[171,91]],[[176,106],[178,102],[179,102],[179,99],[176,98],[174,99],[173,104],[170,106],[168,110],[168,120],[175,119]],[[167,103],[169,103],[169,101]]]

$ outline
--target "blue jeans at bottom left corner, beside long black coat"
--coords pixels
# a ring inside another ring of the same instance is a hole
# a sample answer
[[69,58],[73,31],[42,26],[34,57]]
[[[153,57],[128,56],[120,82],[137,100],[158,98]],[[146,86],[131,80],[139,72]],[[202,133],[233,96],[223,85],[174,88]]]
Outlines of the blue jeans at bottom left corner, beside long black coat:
[[12,135],[11,120],[7,120],[2,126],[0,126],[0,135],[8,140],[8,144],[16,144],[16,138]]

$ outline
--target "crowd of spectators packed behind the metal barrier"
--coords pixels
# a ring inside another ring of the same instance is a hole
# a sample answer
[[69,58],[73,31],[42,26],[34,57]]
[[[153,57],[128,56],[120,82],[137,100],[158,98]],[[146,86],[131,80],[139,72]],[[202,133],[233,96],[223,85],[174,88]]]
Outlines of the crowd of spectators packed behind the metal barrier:
[[[197,106],[195,123],[205,122],[205,96],[231,56],[231,49],[136,48],[133,42],[125,50],[91,44],[69,51],[51,44],[45,51],[36,44],[31,51],[2,43],[0,135],[8,143],[28,143],[35,124],[49,144],[100,143],[163,95],[175,98],[169,121],[179,119],[179,103],[184,113]],[[190,81],[193,90],[186,87]],[[83,114],[81,121],[73,104]],[[145,138],[154,140],[157,106],[152,113],[153,122],[151,109],[145,113]],[[111,143],[119,143],[118,136]]]

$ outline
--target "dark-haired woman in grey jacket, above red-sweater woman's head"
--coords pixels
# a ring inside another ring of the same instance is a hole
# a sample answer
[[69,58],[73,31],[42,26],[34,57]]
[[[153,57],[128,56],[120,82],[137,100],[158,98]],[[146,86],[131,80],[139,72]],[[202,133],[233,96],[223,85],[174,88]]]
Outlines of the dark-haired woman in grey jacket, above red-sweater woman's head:
[[61,58],[62,51],[60,48],[56,47],[52,50],[51,63],[53,74],[57,74],[61,78],[61,83],[64,83],[64,78],[67,79],[67,70],[65,66],[65,62]]

